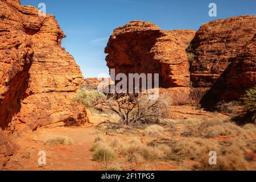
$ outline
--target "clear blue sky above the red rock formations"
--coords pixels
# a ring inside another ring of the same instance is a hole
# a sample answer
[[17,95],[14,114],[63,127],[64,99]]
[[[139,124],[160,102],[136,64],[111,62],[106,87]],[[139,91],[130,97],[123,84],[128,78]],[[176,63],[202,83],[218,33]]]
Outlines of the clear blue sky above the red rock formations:
[[[214,19],[255,15],[255,0],[20,0],[22,5],[46,4],[67,35],[63,47],[75,57],[85,78],[108,75],[104,48],[114,28],[131,20],[144,20],[164,30],[198,30]],[[217,17],[208,15],[209,3],[217,5]]]

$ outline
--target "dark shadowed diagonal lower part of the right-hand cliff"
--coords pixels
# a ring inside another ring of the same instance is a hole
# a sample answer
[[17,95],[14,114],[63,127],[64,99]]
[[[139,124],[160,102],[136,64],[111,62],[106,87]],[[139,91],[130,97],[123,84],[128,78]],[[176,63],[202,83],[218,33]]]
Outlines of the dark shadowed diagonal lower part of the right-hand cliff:
[[256,85],[256,34],[241,49],[237,57],[230,59],[226,71],[213,84],[201,100],[201,105],[210,107],[220,101],[240,99],[245,90]]

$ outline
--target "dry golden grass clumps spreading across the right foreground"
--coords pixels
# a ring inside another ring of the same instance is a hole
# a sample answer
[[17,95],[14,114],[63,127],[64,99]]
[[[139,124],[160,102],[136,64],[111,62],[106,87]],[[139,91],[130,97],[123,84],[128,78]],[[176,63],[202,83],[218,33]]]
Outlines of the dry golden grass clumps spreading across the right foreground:
[[[249,160],[246,156],[256,152],[256,126],[254,124],[238,126],[229,119],[218,118],[191,118],[177,122],[172,121],[172,123],[185,126],[185,132],[182,134],[185,137],[178,140],[164,140],[166,142],[154,142],[155,140],[159,141],[164,129],[159,125],[152,125],[143,132],[144,136],[155,139],[152,142],[141,142],[138,138],[130,139],[130,135],[125,138],[115,137],[112,140],[98,137],[92,150],[95,153],[98,148],[108,148],[107,151],[110,149],[113,154],[126,158],[129,162],[175,160],[179,164],[186,164],[191,161],[196,163],[195,166],[181,166],[183,170],[233,171],[253,169],[251,167],[251,160],[253,159]],[[164,125],[164,127],[169,126]],[[222,140],[226,137],[226,140]],[[209,164],[210,151],[216,151],[217,165]],[[103,153],[101,151],[101,156]],[[100,158],[100,161],[104,160],[105,158]]]

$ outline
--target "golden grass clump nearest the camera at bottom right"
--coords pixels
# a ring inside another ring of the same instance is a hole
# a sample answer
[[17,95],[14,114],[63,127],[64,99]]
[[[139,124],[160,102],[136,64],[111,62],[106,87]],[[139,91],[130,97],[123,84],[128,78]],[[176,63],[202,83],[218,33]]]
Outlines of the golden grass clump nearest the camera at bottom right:
[[[209,152],[217,154],[217,164],[209,164]],[[228,143],[211,141],[208,139],[195,139],[194,141],[180,140],[172,144],[172,158],[189,159],[198,162],[196,170],[208,171],[236,171],[250,169],[245,154],[250,150],[241,139],[234,139]],[[176,155],[176,156],[175,156]]]

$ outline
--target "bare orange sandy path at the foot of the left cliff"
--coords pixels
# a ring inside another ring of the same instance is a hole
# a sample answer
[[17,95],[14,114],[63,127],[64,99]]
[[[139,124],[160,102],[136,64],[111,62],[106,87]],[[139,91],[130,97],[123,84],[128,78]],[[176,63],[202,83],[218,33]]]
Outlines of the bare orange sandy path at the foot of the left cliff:
[[[49,136],[67,136],[71,146],[44,146]],[[82,127],[44,127],[23,134],[14,140],[20,149],[11,157],[5,169],[14,170],[100,170],[99,163],[92,160],[90,148],[97,136],[93,125]],[[46,165],[38,164],[38,152],[46,152]]]

